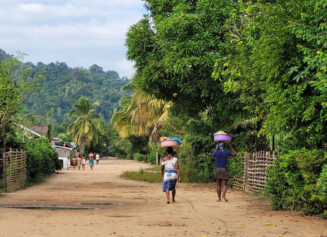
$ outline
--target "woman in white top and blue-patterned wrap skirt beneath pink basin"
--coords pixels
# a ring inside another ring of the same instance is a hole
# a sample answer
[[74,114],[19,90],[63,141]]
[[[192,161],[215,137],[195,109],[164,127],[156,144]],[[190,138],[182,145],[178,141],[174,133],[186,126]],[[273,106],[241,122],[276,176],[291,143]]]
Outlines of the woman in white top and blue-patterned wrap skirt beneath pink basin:
[[[181,171],[178,165],[178,159],[173,156],[174,149],[172,147],[167,148],[168,156],[163,158],[161,164],[161,176],[163,177],[163,192],[166,193],[167,203],[169,200],[169,191],[172,191],[172,202],[175,202],[176,195],[176,183],[177,176],[179,178],[179,183],[182,182]],[[163,173],[164,171],[164,173]]]

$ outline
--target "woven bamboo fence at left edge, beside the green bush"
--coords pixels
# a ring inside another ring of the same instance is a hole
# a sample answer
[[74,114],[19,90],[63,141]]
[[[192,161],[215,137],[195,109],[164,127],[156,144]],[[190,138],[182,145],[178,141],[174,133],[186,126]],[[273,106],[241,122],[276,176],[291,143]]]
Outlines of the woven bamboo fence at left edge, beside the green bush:
[[22,188],[27,178],[27,152],[10,148],[9,152],[3,151],[3,154],[4,187],[7,192]]

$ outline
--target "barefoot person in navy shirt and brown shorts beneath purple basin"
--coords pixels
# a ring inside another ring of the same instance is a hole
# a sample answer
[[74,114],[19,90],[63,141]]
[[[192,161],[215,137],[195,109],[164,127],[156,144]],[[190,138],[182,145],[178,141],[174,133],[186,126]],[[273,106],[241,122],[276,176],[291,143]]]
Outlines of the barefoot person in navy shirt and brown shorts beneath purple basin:
[[[236,152],[232,148],[231,143],[228,143],[231,151],[224,151],[225,143],[218,142],[215,152],[212,157],[216,157],[216,171],[215,180],[217,182],[216,189],[218,194],[218,202],[221,202],[221,198],[228,201],[226,198],[227,181],[229,180],[229,174],[227,173],[227,158],[228,156],[236,156]],[[223,187],[223,194],[221,195],[221,185]]]

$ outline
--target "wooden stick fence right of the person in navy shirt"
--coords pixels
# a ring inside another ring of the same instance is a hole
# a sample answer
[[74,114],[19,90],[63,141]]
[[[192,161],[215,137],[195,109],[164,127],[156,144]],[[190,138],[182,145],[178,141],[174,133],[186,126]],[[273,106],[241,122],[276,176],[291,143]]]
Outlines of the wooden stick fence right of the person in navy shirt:
[[[277,156],[279,156],[279,153]],[[275,152],[245,153],[242,159],[242,175],[232,178],[233,188],[255,194],[261,193],[266,187],[267,171],[274,166]]]

